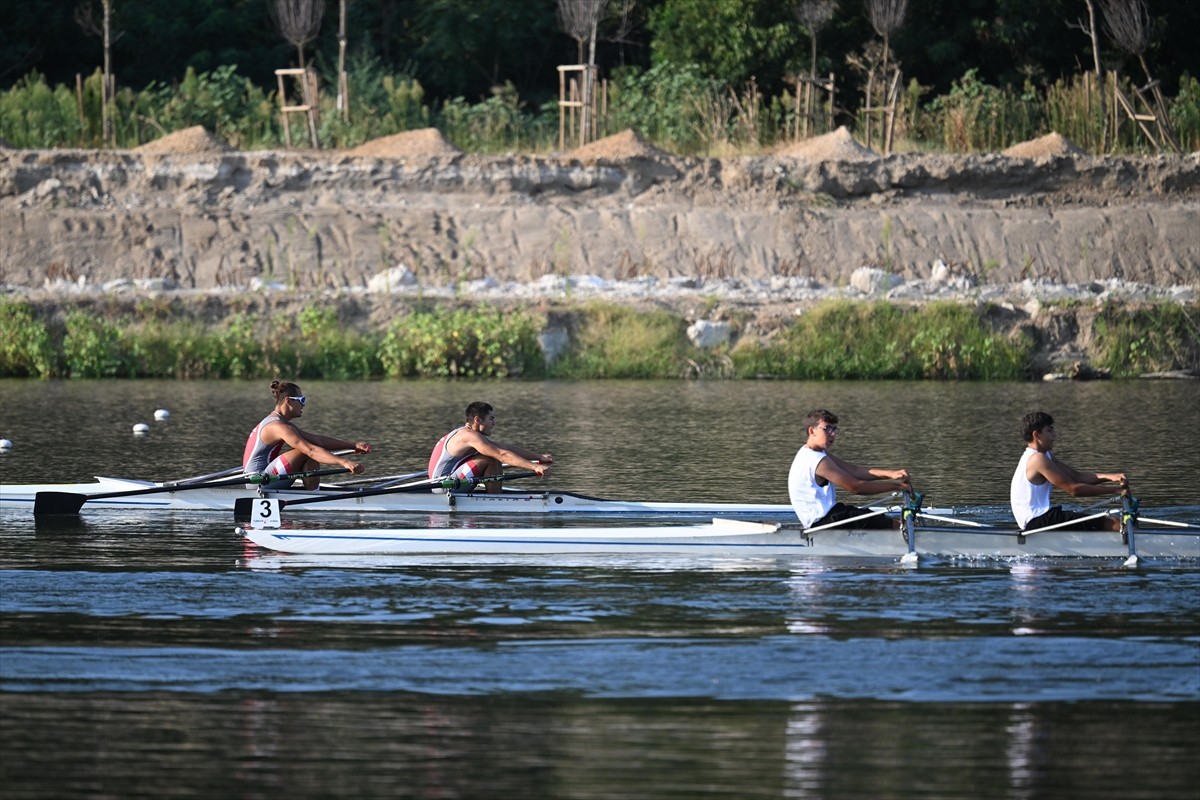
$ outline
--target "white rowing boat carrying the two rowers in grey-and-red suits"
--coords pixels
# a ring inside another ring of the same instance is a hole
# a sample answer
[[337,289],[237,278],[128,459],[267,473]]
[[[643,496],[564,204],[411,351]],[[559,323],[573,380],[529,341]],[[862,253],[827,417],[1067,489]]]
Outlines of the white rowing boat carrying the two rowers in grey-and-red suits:
[[[0,485],[0,510],[26,511],[34,507],[38,492],[62,492],[80,495],[138,492],[163,487],[162,483],[115,477],[97,477],[94,483]],[[550,513],[578,516],[764,516],[794,518],[787,504],[762,503],[665,503],[610,500],[575,492],[527,492],[505,488],[504,492],[404,492],[325,499],[343,494],[344,487],[328,486],[312,492],[305,489],[247,488],[245,486],[198,487],[179,492],[132,494],[104,498],[88,503],[88,510],[157,510],[157,511],[222,511],[229,513],[240,498],[275,498],[288,506],[295,500],[320,499],[319,503],[295,504],[296,511],[358,511],[458,515]]]

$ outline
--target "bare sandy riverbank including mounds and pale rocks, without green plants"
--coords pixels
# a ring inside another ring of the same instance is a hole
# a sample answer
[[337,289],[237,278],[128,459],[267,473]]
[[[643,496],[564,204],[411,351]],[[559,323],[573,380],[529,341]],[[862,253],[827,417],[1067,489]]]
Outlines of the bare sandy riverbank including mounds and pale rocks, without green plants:
[[[632,132],[493,157],[433,130],[238,152],[192,128],[136,151],[0,150],[0,290],[59,332],[79,309],[270,335],[317,308],[367,337],[430,307],[529,311],[550,361],[593,303],[664,314],[695,362],[769,348],[830,302],[949,302],[1028,339],[1030,377],[1139,374],[1200,368],[1196,219],[1200,155],[1096,158],[1056,136],[881,157],[842,130],[714,160]],[[1152,359],[1098,343],[1112,314],[1162,339]]]

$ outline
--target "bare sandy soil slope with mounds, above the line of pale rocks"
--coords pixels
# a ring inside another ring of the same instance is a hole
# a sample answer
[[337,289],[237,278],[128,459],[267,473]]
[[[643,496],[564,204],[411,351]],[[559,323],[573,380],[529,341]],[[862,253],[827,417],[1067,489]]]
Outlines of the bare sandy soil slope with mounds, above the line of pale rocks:
[[[229,149],[190,128],[133,151],[0,148],[0,284],[346,289],[545,276],[792,279],[880,267],[976,283],[1200,287],[1200,154],[881,157],[845,128],[760,157],[680,158],[631,131],[546,157],[436,130],[347,151]],[[256,283],[258,282],[258,283]]]

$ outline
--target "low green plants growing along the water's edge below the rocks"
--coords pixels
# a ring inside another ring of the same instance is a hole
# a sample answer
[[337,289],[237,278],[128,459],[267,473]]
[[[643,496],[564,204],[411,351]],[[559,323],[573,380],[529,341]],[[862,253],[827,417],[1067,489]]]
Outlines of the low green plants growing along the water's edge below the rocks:
[[[829,301],[766,343],[701,350],[686,320],[611,303],[556,314],[569,345],[546,363],[539,314],[419,307],[362,331],[331,308],[295,320],[246,309],[200,321],[172,303],[133,312],[42,312],[0,300],[0,377],[16,378],[784,378],[1019,380],[1036,377],[1030,333],[994,330],[991,309]],[[1123,378],[1200,365],[1200,306],[1064,307],[1094,330],[1090,362]],[[738,324],[734,323],[734,327]]]

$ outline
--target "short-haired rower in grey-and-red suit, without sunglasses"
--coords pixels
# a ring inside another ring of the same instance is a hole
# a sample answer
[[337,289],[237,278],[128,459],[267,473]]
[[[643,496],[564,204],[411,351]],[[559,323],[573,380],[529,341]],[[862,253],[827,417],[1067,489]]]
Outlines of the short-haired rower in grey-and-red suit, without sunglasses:
[[[466,425],[438,440],[430,453],[428,475],[457,477],[475,482],[482,477],[499,477],[504,465],[524,467],[538,475],[554,463],[550,453],[535,453],[517,445],[500,444],[491,438],[496,427],[496,411],[491,404],[476,401],[467,407]],[[500,491],[499,481],[488,481],[488,492]]]

